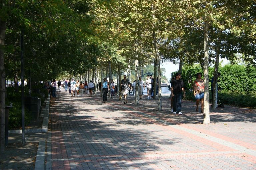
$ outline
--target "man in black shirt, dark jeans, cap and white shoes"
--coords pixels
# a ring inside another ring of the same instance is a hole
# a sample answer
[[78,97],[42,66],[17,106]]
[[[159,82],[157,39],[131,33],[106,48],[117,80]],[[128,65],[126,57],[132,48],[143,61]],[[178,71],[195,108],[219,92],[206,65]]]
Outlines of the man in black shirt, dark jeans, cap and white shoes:
[[172,80],[171,85],[171,93],[173,97],[173,114],[178,113],[179,115],[182,115],[181,113],[181,99],[182,99],[182,92],[183,97],[185,97],[185,90],[184,90],[184,83],[183,80],[181,80],[181,73],[175,74],[176,78]]

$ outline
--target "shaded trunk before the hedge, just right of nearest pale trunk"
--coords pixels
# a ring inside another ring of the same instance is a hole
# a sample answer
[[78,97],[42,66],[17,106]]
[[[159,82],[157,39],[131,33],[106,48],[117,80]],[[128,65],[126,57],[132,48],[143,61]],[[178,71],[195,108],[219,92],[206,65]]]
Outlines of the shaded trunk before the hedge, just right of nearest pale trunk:
[[217,108],[217,94],[218,94],[218,68],[219,68],[219,60],[220,60],[220,44],[221,41],[218,40],[216,46],[216,56],[215,56],[215,64],[214,64],[214,78],[213,78],[213,97],[212,97],[212,108]]

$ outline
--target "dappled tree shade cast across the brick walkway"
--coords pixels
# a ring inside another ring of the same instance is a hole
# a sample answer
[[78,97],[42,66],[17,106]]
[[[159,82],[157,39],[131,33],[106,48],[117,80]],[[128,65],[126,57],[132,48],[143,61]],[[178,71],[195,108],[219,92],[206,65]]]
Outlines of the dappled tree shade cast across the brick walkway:
[[[58,96],[50,107],[53,169],[143,169],[146,164],[157,164],[157,160],[146,159],[149,153],[156,154],[162,145],[171,146],[179,140],[171,135],[161,138],[162,133],[170,133],[162,129],[143,127],[203,121],[203,115],[194,112],[194,102],[183,101],[183,115],[174,115],[166,97],[162,99],[162,111],[157,111],[157,100],[143,99],[139,105],[134,104],[133,96],[128,100],[123,104],[115,96],[103,103],[98,95]],[[230,106],[211,110],[210,115],[214,123],[255,122],[255,110]]]

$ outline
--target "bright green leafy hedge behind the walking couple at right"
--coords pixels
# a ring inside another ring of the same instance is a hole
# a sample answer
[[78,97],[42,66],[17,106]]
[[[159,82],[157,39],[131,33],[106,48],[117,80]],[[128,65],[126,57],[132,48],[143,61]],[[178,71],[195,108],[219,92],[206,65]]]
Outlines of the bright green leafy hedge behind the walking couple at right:
[[[209,86],[213,77],[213,67],[209,67]],[[186,99],[195,100],[192,88],[196,73],[203,69],[199,64],[184,66],[182,79],[186,90]],[[219,67],[221,76],[218,82],[218,100],[223,104],[256,108],[256,68],[245,65],[231,65]],[[176,72],[173,72],[174,75]],[[210,91],[211,96],[211,91]]]

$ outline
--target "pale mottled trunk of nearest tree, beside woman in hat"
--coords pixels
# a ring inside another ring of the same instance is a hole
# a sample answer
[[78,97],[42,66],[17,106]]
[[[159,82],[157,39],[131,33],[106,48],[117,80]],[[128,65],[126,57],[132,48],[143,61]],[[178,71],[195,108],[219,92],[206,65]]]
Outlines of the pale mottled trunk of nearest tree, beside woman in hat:
[[209,23],[204,23],[204,124],[210,124],[210,108],[209,108],[209,37],[208,37]]

